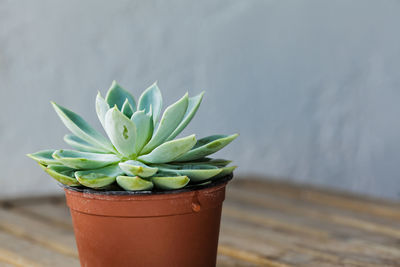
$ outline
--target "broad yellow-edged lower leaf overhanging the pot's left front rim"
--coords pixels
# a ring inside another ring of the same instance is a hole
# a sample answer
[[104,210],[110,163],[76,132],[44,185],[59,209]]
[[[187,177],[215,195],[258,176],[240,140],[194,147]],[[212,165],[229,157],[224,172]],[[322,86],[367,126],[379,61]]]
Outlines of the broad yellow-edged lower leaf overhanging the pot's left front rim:
[[118,165],[111,165],[96,170],[76,171],[79,183],[90,188],[102,188],[114,183],[117,176],[123,174]]

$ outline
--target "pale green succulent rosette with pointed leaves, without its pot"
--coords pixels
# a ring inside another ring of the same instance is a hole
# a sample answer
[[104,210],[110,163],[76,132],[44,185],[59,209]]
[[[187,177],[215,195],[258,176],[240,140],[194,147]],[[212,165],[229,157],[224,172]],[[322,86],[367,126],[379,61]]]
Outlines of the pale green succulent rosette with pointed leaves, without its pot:
[[[129,190],[179,189],[230,174],[230,161],[208,156],[238,135],[195,135],[175,139],[197,112],[203,93],[167,107],[159,120],[162,96],[157,83],[136,103],[115,81],[103,98],[96,97],[96,113],[109,139],[76,113],[51,102],[72,132],[64,141],[75,150],[43,150],[29,157],[45,172],[68,186],[93,189],[119,187]],[[115,184],[116,182],[116,184]]]

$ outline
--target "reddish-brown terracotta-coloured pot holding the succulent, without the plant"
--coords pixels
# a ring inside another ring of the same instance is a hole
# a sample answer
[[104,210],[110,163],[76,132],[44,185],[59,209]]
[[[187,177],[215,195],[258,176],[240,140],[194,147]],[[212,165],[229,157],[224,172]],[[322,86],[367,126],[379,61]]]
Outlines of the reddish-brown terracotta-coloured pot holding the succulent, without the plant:
[[64,187],[81,266],[215,266],[224,178],[167,193]]

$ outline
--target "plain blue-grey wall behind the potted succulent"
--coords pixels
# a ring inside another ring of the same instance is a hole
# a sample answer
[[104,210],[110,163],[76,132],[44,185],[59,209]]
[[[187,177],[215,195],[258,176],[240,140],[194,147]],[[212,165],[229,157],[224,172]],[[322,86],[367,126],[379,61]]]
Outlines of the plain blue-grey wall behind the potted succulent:
[[237,174],[400,198],[399,1],[0,1],[0,197],[60,189],[25,154],[63,148],[54,100],[96,127],[117,80],[165,103],[206,90],[185,131],[239,132]]

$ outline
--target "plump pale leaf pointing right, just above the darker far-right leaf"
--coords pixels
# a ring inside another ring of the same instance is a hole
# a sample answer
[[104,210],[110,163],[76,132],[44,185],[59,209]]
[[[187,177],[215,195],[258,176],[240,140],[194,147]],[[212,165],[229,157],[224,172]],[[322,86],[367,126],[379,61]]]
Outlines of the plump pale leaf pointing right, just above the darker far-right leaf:
[[151,151],[147,155],[138,157],[138,160],[145,163],[166,163],[175,160],[187,151],[189,151],[196,143],[195,135],[184,138],[175,139],[165,142]]

